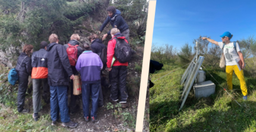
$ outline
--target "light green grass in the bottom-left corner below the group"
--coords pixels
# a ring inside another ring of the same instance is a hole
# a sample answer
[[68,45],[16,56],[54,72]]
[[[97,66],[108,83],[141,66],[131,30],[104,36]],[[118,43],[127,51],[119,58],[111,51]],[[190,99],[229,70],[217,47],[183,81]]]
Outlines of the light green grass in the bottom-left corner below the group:
[[[32,99],[32,96],[26,99]],[[18,114],[17,108],[3,104],[0,104],[0,118],[0,131],[67,131],[64,127],[52,126],[50,114],[41,114],[40,119],[34,121],[31,112]]]

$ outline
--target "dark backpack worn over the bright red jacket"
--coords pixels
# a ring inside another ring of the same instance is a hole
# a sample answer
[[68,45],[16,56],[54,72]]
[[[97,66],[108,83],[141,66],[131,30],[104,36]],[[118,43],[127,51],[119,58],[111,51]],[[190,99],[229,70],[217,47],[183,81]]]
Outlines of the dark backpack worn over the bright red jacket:
[[115,53],[114,56],[120,63],[128,62],[132,59],[132,49],[129,44],[124,39],[118,39],[114,37],[115,44]]

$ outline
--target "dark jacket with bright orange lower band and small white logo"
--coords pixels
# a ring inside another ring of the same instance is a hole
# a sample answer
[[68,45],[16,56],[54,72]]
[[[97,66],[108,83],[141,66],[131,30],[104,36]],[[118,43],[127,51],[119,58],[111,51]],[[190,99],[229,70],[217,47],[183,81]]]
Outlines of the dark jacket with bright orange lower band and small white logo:
[[32,79],[44,79],[48,76],[47,51],[40,49],[32,54]]

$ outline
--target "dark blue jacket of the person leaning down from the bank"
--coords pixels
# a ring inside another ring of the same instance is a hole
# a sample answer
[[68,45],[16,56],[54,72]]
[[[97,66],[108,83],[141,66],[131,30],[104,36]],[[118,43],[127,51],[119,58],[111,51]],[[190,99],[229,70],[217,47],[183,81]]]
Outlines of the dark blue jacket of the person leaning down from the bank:
[[[106,27],[108,22],[110,22],[112,27],[115,27],[116,25],[117,28],[120,30],[120,33],[129,28],[128,24],[126,23],[126,21],[124,21],[124,18],[121,16],[121,11],[119,11],[118,9],[115,9],[115,11],[116,12],[112,17],[108,16],[105,19],[105,21],[101,25],[101,28],[99,28],[99,31],[102,32],[102,30]],[[110,31],[108,31],[108,35],[110,35]]]

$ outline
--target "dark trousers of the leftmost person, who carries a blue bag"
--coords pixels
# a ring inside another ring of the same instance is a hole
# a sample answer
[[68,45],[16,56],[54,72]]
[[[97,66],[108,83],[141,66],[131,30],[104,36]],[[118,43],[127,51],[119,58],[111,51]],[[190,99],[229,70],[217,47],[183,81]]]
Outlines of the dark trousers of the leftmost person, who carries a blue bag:
[[29,83],[29,76],[18,76],[18,96],[17,96],[17,108],[18,112],[23,111],[25,104],[25,96],[27,91],[27,83]]

